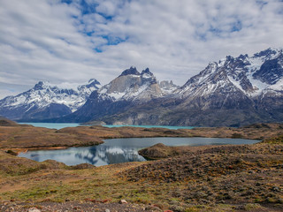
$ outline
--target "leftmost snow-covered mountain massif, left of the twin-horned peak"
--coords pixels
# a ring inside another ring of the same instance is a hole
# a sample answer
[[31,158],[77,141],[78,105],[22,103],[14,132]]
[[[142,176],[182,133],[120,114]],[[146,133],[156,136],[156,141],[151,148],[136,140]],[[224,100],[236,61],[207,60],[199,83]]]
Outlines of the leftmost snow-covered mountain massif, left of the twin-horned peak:
[[78,110],[99,87],[96,79],[80,86],[40,81],[27,92],[0,100],[0,114],[14,120],[65,116]]

